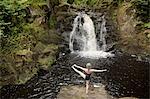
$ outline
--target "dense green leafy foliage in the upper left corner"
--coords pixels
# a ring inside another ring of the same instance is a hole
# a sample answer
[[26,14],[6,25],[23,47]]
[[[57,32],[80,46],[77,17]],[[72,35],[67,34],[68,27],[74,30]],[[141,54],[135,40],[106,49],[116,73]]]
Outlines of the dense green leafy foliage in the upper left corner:
[[[10,47],[16,47],[17,36],[22,32],[25,23],[26,10],[28,6],[26,0],[2,0],[0,2],[0,33],[1,50],[7,51]],[[10,49],[11,50],[11,49]]]

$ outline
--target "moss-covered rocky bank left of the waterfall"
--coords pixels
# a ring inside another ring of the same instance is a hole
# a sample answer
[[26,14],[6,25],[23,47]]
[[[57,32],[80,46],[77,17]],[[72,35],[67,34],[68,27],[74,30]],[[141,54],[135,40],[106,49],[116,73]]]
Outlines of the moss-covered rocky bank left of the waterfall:
[[[3,37],[0,41],[3,42],[3,47],[0,47],[0,86],[25,83],[39,68],[47,69],[56,60],[58,44],[62,39],[55,29],[54,8],[58,6],[59,0],[20,2],[16,1],[15,4],[9,0],[3,5],[15,9],[7,9],[8,12],[14,10],[6,15],[9,19],[6,21],[11,25],[11,30],[8,27],[5,33],[8,35],[0,34]],[[6,17],[1,18],[5,21]]]

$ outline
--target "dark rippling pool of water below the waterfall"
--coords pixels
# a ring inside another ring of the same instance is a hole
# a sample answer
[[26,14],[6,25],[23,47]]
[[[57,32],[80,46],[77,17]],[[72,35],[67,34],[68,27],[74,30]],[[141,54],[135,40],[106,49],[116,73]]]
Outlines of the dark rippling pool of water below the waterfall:
[[75,54],[65,55],[53,64],[50,71],[40,70],[25,84],[2,87],[1,99],[56,99],[62,86],[85,84],[84,79],[71,69],[71,65],[76,63],[84,66],[87,62],[91,62],[94,68],[108,70],[95,73],[91,81],[104,84],[109,95],[149,98],[150,63],[119,53],[115,57],[93,60]]

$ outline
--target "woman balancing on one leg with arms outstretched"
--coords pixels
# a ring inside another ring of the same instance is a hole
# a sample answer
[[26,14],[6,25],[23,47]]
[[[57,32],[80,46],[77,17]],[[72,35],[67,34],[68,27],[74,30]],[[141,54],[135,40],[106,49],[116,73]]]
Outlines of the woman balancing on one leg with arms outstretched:
[[[86,64],[86,68],[77,66],[76,64],[74,64],[72,66],[72,68],[74,69],[74,71],[76,71],[77,73],[79,73],[86,80],[86,94],[88,94],[88,89],[89,89],[89,83],[90,83],[91,74],[93,72],[107,71],[106,69],[103,69],[103,70],[91,69],[91,66],[92,66],[91,63],[87,63]],[[77,70],[76,68],[79,68],[79,69],[83,70],[84,73],[82,73],[81,71]]]

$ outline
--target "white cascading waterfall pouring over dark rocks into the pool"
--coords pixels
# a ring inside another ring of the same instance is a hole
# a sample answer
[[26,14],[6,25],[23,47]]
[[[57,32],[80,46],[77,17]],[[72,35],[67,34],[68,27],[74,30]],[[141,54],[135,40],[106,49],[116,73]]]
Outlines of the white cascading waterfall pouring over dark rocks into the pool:
[[[82,19],[84,22],[82,22]],[[74,19],[73,30],[70,33],[69,48],[71,52],[78,53],[81,57],[87,58],[107,58],[113,56],[113,54],[105,52],[107,47],[105,23],[106,20],[103,16],[99,27],[101,29],[100,42],[102,42],[102,46],[98,46],[92,19],[87,14],[79,13]]]

